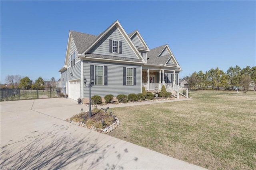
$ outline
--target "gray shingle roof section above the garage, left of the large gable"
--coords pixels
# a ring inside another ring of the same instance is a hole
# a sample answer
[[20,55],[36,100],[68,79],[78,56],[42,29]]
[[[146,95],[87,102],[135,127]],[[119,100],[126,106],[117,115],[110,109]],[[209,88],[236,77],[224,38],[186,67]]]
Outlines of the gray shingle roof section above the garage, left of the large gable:
[[91,34],[85,34],[85,33],[76,32],[76,31],[70,31],[70,34],[74,40],[76,49],[80,54],[86,48],[88,48],[98,37]]

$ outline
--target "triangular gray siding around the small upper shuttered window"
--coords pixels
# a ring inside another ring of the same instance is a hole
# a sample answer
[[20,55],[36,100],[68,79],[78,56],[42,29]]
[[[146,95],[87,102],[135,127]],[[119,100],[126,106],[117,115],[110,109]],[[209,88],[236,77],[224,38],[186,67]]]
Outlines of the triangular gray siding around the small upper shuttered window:
[[[122,54],[108,52],[109,39],[122,42]],[[130,45],[128,45],[128,43],[116,27],[110,30],[110,32],[108,32],[108,34],[106,34],[106,36],[104,36],[104,38],[102,38],[100,42],[94,45],[94,47],[92,47],[92,49],[88,53],[138,59],[138,57],[132,51]]]

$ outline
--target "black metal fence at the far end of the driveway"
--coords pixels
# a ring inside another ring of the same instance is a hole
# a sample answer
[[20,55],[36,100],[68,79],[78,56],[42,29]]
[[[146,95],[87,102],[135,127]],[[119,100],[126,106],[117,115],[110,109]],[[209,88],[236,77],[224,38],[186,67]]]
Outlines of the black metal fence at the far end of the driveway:
[[64,97],[66,87],[49,87],[41,89],[0,89],[0,101],[46,99]]

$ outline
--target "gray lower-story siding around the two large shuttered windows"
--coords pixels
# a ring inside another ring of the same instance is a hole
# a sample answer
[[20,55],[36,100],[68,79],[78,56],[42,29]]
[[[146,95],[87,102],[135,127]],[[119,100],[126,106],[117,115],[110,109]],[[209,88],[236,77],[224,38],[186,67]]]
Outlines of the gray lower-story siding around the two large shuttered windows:
[[[83,61],[84,76],[87,82],[90,81],[90,65],[106,65],[108,66],[108,85],[94,85],[91,88],[91,95],[99,95],[104,97],[105,95],[112,94],[114,96],[130,93],[141,93],[141,66],[140,65],[128,65],[121,63],[111,62],[95,62],[95,61]],[[123,67],[136,68],[136,85],[123,85]],[[84,87],[84,98],[89,97],[89,88]]]

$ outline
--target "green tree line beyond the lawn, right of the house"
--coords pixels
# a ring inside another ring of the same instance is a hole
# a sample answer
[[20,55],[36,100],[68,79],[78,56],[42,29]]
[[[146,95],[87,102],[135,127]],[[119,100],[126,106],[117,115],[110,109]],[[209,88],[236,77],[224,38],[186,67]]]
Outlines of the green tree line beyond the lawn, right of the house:
[[183,78],[191,89],[222,89],[231,90],[242,87],[244,93],[249,90],[251,85],[256,90],[256,66],[246,66],[241,69],[238,65],[235,67],[229,67],[224,72],[218,67],[216,69],[210,69],[204,73],[203,71],[194,72],[192,75]]

